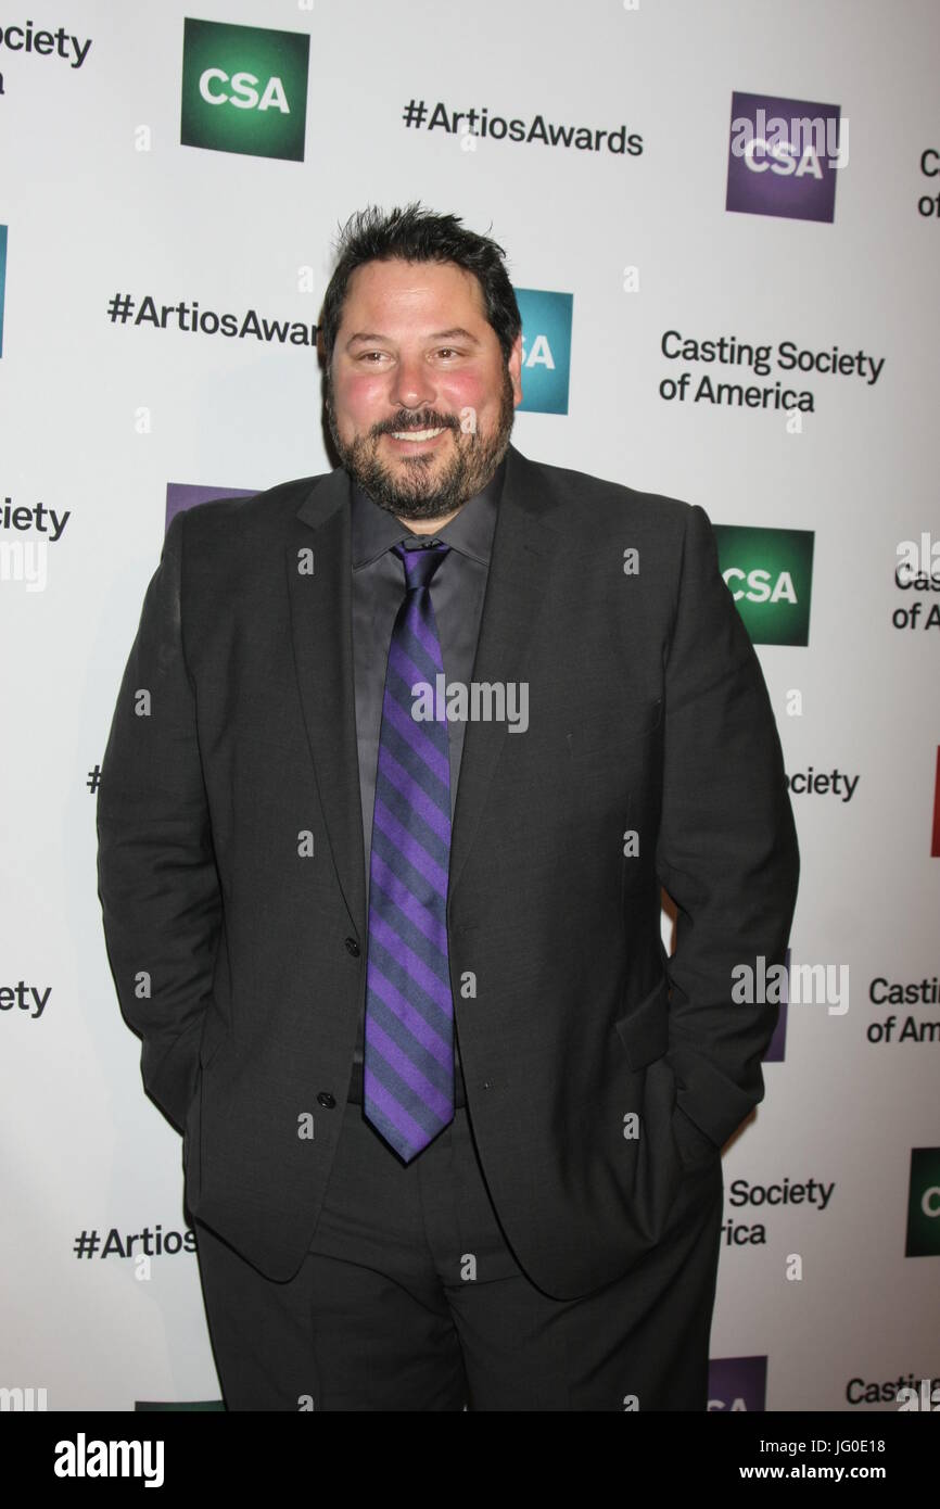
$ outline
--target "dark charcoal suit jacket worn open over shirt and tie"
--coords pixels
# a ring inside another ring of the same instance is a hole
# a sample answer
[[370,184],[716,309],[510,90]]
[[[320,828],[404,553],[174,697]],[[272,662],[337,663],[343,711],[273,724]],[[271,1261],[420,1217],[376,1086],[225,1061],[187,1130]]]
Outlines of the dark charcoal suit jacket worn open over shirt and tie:
[[[474,681],[527,682],[530,726],[466,727],[447,916],[468,1108],[519,1263],[573,1298],[668,1245],[680,1182],[763,1096],[779,1008],[733,1003],[732,969],[783,961],[797,837],[700,507],[510,447]],[[172,521],[98,837],[118,996],[184,1130],[189,1209],[287,1280],[365,990],[343,471]]]

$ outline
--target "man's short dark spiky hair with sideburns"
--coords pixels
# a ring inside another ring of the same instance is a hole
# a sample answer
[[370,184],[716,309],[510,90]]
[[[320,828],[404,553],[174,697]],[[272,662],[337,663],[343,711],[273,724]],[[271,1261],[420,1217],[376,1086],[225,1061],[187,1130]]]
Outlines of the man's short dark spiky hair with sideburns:
[[522,329],[516,294],[502,261],[505,252],[489,235],[463,229],[456,214],[433,214],[419,202],[385,214],[374,205],[350,216],[336,241],[336,267],[323,296],[318,337],[329,367],[349,279],[364,263],[456,263],[480,282],[486,318],[508,361]]

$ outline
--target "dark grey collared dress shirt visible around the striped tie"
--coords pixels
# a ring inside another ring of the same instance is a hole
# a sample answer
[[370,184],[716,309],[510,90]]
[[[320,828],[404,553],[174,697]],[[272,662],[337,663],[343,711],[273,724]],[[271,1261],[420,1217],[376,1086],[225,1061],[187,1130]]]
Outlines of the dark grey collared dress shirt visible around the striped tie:
[[[373,807],[376,804],[376,768],[379,764],[379,732],[385,697],[385,668],[392,626],[404,599],[404,566],[392,545],[401,540],[442,540],[450,549],[432,581],[430,593],[441,640],[441,658],[448,682],[469,684],[472,679],[483,598],[489,576],[489,560],[496,528],[499,495],[505,460],[499,463],[486,487],[463,504],[450,524],[435,534],[415,536],[412,530],[380,509],[379,504],[350,484],[352,504],[352,566],[353,566],[353,665],[356,678],[356,735],[359,745],[359,791],[362,797],[362,836],[365,850],[365,896],[368,908]],[[463,754],[462,721],[447,723],[451,767],[451,821],[457,800],[457,779]],[[367,913],[368,914],[368,913]],[[353,1096],[361,1100],[362,1061],[365,1047],[365,1010],[359,1016],[353,1068]],[[460,1050],[454,1031],[456,1100],[466,1103]]]

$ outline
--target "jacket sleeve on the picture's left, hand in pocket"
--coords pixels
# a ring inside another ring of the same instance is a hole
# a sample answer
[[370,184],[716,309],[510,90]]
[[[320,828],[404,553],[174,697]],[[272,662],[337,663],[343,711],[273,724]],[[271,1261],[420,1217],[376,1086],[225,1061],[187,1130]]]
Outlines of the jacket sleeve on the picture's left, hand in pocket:
[[98,895],[121,1011],[148,1094],[183,1129],[222,920],[183,647],[177,515],[149,582],[98,789]]

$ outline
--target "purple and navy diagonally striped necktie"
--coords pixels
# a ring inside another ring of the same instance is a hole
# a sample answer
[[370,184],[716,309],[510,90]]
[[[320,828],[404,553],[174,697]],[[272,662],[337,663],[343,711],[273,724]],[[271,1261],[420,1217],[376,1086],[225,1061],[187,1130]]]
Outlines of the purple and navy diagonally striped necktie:
[[[388,650],[370,859],[365,1118],[409,1163],[454,1117],[447,955],[450,741],[430,582],[450,546],[392,546],[406,590]],[[412,715],[433,688],[435,721]]]

